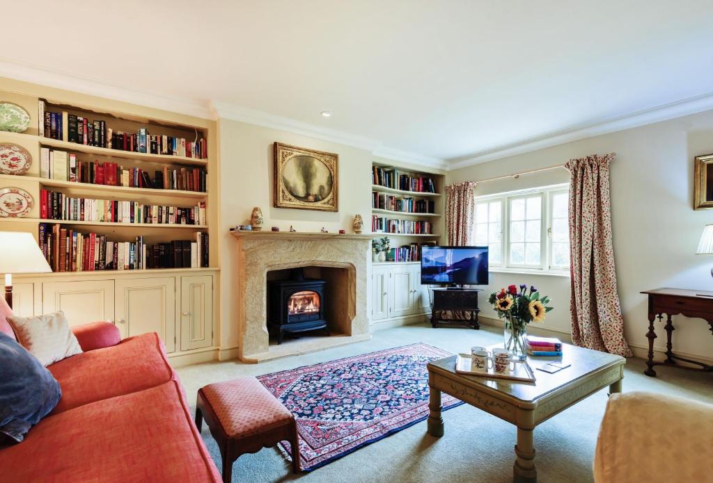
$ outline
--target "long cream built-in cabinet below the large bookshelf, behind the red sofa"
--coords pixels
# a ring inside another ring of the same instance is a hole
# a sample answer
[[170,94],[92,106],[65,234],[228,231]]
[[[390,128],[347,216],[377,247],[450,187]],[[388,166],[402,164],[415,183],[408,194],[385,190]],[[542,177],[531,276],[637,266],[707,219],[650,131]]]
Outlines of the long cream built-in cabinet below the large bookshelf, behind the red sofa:
[[[169,354],[213,346],[215,275],[167,274],[112,280],[33,280],[14,285],[23,317],[61,310],[71,327],[106,320],[122,339],[156,332]],[[41,304],[36,304],[36,298]]]

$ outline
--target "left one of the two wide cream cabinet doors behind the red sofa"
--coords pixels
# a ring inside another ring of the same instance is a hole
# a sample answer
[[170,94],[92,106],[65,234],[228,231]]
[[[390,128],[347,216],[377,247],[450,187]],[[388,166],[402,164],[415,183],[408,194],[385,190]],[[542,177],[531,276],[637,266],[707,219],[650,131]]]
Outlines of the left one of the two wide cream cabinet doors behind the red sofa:
[[114,321],[114,281],[77,280],[43,282],[42,312],[61,310],[69,326],[106,320]]

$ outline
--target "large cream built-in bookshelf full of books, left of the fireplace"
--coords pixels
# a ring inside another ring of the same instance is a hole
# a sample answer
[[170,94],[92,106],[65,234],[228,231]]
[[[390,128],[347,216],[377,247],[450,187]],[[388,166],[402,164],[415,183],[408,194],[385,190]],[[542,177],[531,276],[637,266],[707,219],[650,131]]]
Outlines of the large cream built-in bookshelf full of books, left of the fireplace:
[[[0,174],[0,189],[22,189],[34,202],[22,218],[0,218],[0,230],[33,233],[48,260],[59,256],[46,251],[48,241],[60,245],[54,237],[63,238],[62,260],[76,260],[87,237],[115,255],[126,248],[132,257],[126,270],[102,264],[117,275],[172,268],[148,258],[179,241],[188,253],[193,243],[194,261],[185,266],[182,259],[176,269],[217,267],[214,121],[26,83],[0,86],[0,101],[31,117],[24,132],[0,131],[0,144],[22,147],[32,158],[26,173]],[[82,265],[63,263],[61,271],[95,272]],[[51,266],[57,271],[58,262]]]

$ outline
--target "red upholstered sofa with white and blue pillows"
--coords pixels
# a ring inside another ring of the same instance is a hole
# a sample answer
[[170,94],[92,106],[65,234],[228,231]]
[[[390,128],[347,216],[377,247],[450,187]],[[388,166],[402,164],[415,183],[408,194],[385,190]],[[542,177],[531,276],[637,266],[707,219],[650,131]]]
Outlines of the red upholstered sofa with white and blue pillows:
[[[11,311],[0,298],[0,330]],[[220,482],[157,334],[73,329],[83,354],[48,366],[62,398],[25,440],[0,449],[0,482]]]

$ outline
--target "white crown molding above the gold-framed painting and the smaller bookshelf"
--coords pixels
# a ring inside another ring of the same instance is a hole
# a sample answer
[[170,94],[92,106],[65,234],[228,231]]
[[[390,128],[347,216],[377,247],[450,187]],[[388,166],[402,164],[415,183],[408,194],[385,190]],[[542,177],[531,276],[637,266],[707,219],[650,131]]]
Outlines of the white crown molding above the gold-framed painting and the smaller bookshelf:
[[347,146],[365,149],[374,156],[380,156],[394,161],[403,161],[410,164],[417,164],[429,168],[444,169],[446,161],[430,156],[423,156],[412,152],[402,151],[384,146],[384,143],[369,137],[350,134],[329,127],[317,126],[308,122],[297,121],[289,117],[277,116],[247,107],[233,105],[230,102],[211,101],[211,106],[215,115],[220,119],[228,119],[246,124],[269,127],[279,131],[291,132],[307,137],[322,139],[323,141],[336,142]]

